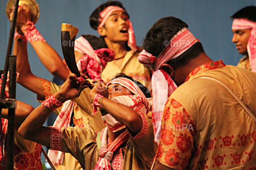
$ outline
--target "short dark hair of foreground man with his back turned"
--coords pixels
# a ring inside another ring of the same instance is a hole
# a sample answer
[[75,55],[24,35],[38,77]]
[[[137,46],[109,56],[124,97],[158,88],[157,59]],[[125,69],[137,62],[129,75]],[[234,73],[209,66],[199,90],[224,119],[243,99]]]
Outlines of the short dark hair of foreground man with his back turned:
[[[159,19],[146,34],[143,48],[147,52],[158,57],[166,48],[164,42],[169,42],[172,37],[184,27],[188,28],[188,25],[179,18],[164,17]],[[166,63],[172,66],[175,70],[177,67],[187,65],[191,59],[196,58],[202,52],[204,52],[204,50],[201,42],[196,42],[179,57]]]

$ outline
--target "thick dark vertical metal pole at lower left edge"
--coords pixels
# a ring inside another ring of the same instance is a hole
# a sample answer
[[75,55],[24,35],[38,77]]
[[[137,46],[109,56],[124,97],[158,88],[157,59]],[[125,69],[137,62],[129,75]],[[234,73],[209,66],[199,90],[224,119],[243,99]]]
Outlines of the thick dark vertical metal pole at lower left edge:
[[[16,98],[16,56],[9,57],[9,98]],[[15,109],[8,110],[7,170],[13,170]]]

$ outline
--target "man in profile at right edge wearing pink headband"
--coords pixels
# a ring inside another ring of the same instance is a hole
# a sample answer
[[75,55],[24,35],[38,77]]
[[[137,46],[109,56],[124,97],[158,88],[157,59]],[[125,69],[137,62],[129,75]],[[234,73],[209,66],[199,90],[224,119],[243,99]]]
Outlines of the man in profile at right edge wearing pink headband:
[[256,7],[247,6],[240,9],[232,17],[232,42],[244,57],[238,67],[256,72]]

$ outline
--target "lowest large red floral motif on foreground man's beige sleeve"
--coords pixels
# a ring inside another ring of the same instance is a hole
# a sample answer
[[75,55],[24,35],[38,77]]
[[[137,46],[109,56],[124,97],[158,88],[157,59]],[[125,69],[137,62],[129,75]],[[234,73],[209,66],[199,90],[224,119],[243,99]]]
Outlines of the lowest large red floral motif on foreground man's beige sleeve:
[[181,157],[179,157],[179,153],[175,151],[175,149],[169,149],[165,154],[165,162],[168,166],[174,167],[180,164]]

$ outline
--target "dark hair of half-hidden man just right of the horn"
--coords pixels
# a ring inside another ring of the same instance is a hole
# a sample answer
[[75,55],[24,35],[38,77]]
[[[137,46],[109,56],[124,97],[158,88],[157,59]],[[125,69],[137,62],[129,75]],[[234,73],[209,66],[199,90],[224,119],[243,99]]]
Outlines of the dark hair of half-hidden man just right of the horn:
[[97,37],[95,35],[90,35],[90,34],[82,34],[81,36],[91,44],[91,47],[93,48],[93,50],[108,48],[106,42],[100,37]]

